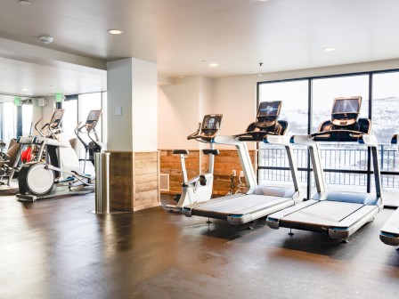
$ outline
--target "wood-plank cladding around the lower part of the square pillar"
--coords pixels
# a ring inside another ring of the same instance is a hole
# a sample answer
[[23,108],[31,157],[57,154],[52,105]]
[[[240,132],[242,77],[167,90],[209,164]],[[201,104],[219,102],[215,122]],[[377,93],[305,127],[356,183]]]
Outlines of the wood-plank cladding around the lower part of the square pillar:
[[110,151],[110,209],[159,206],[159,152]]

